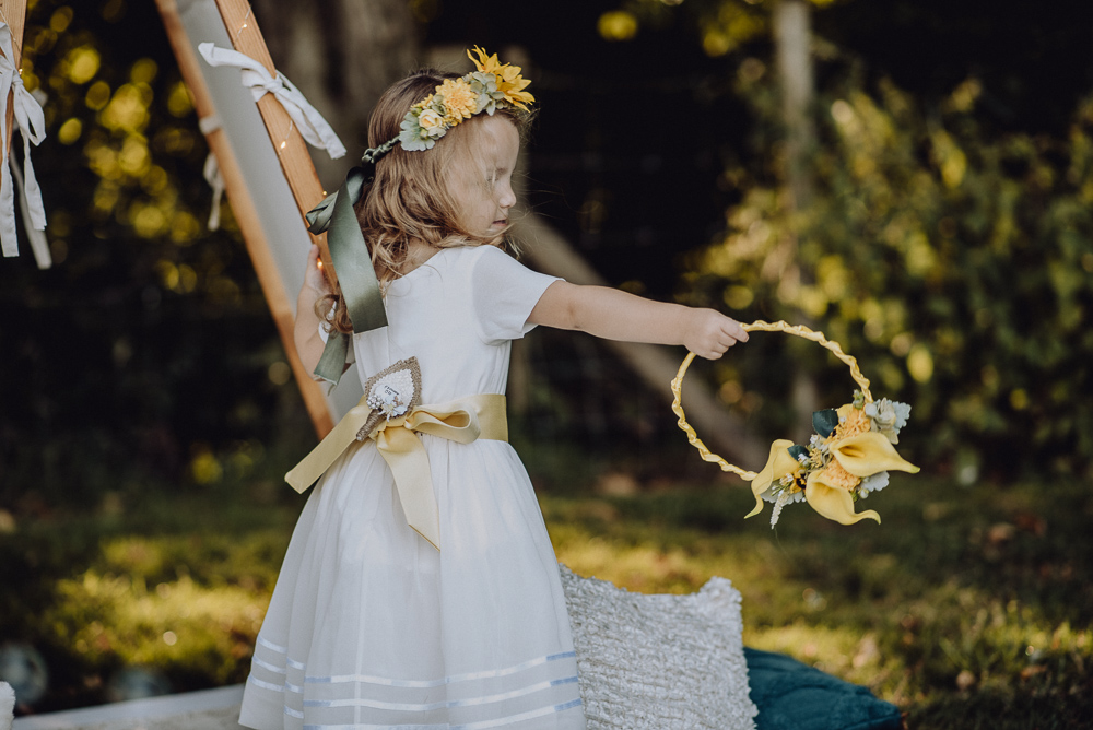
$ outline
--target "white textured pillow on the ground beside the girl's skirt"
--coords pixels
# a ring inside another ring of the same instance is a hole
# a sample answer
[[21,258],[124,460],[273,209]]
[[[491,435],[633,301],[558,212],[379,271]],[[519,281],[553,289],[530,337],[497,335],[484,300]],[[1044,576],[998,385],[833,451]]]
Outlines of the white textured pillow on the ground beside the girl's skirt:
[[560,567],[588,730],[753,730],[740,593],[729,580],[645,596]]

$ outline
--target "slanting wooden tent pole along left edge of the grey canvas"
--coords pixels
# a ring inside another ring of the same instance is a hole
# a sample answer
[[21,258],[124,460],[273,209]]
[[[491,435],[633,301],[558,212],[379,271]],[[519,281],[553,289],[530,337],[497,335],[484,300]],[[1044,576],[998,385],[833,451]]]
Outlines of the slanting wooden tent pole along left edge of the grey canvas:
[[[177,3],[175,0],[156,0],[156,4],[160,8],[160,14],[163,17],[163,25],[167,31],[171,46],[175,51],[175,58],[178,60],[179,71],[193,96],[193,108],[198,113],[198,118],[209,119],[214,117],[216,108],[205,85],[200,66],[201,61],[193,52],[193,47],[179,17]],[[269,98],[269,95],[267,95],[267,98]],[[280,105],[278,107],[280,108]],[[287,118],[287,115],[285,117]],[[293,338],[295,317],[293,315],[292,302],[289,299],[289,294],[284,290],[277,263],[270,254],[262,223],[258,216],[254,200],[250,197],[247,181],[243,176],[238,161],[235,158],[232,145],[224,131],[222,129],[212,129],[205,132],[205,140],[209,143],[209,149],[216,155],[216,162],[224,176],[225,191],[232,203],[232,212],[239,223],[243,240],[247,246],[250,260],[254,262],[255,272],[258,274],[258,281],[261,284],[266,302],[269,304],[270,313],[273,315],[273,321],[281,335],[285,356],[299,386],[304,404],[312,417],[312,423],[315,425],[315,431],[321,438],[333,428],[333,419],[319,384],[312,379],[310,373],[307,372],[299,356],[296,354],[296,345]],[[304,152],[306,154],[306,150]],[[308,164],[310,164],[309,161]],[[317,181],[318,178],[316,178]],[[293,192],[295,193],[295,189],[293,189]],[[321,197],[319,199],[321,200]],[[297,197],[296,200],[298,203],[299,198]],[[305,251],[301,250],[299,258],[302,261],[304,260],[304,254]]]

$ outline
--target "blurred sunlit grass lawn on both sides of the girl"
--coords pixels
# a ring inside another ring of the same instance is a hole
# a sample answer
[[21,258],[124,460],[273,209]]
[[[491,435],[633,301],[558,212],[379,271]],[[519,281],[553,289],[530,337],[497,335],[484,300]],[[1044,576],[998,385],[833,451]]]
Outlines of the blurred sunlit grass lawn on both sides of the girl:
[[[576,572],[644,592],[726,576],[747,644],[869,686],[910,728],[1093,723],[1093,492],[1079,481],[897,479],[869,499],[881,526],[802,504],[773,531],[741,519],[739,483],[541,502]],[[101,702],[131,664],[176,690],[240,682],[298,508],[199,494],[16,516],[0,535],[0,639],[46,656],[43,707]]]

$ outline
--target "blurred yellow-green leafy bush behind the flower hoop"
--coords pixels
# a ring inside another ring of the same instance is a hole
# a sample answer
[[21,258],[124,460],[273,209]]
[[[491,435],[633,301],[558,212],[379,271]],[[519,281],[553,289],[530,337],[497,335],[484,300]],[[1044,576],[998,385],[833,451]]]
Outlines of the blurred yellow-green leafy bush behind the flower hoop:
[[1067,139],[988,134],[975,78],[924,107],[867,83],[858,61],[834,63],[815,114],[816,200],[796,217],[775,86],[760,61],[741,64],[762,153],[726,172],[741,201],[696,257],[692,294],[719,294],[744,320],[813,318],[884,396],[914,404],[931,458],[956,457],[967,481],[980,466],[1089,464],[1093,99]]

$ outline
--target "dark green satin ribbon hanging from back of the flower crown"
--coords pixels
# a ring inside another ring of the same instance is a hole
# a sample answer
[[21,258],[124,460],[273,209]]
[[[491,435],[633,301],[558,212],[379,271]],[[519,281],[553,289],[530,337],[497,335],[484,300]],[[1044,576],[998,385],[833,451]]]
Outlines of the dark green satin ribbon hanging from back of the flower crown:
[[[327,247],[330,260],[338,274],[353,332],[368,332],[387,327],[387,310],[384,296],[372,266],[368,245],[361,232],[361,224],[353,210],[361,199],[369,177],[363,167],[354,167],[345,177],[338,192],[328,196],[321,203],[308,211],[307,229],[319,234],[327,232]],[[322,356],[315,367],[315,375],[337,386],[345,369],[349,355],[349,337],[331,331]]]

